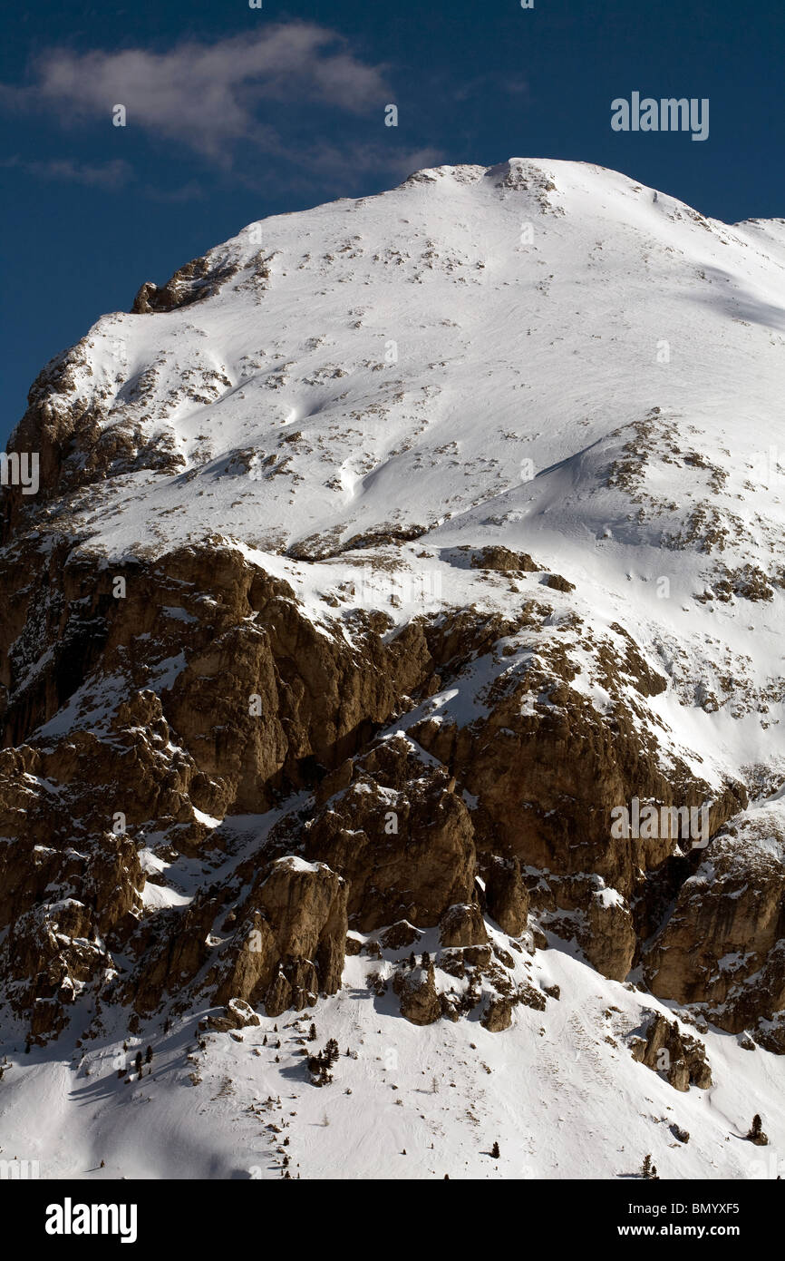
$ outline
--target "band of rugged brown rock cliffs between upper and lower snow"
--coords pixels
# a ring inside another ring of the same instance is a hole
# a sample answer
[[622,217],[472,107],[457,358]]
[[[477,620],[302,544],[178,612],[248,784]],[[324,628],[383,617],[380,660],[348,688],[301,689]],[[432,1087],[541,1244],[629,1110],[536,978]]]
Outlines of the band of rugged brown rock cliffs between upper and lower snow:
[[[349,604],[316,627],[284,579],[219,541],[125,567],[72,551],[60,572],[28,580],[6,642],[0,923],[30,1037],[59,1031],[87,991],[146,1015],[173,999],[301,1009],[340,985],[349,927],[406,922],[412,944],[441,926],[451,975],[456,948],[484,944],[483,912],[529,944],[575,937],[616,980],[645,957],[654,992],[708,1004],[722,1028],[780,1010],[776,982],[742,1001],[738,967],[714,972],[737,952],[745,975],[780,975],[776,857],[745,912],[752,863],[727,834],[711,892],[703,850],[682,856],[677,834],[614,835],[636,794],[711,794],[684,762],[662,768],[646,706],[662,681],[621,628],[591,643],[566,608],[557,639],[552,605],[528,600],[508,620],[445,610],[392,636]],[[571,686],[587,643],[602,715]],[[728,782],[711,832],[745,802]],[[248,815],[258,835],[238,847],[232,820]],[[188,905],[145,897],[185,860],[204,873]],[[660,927],[663,885],[677,903]]]

